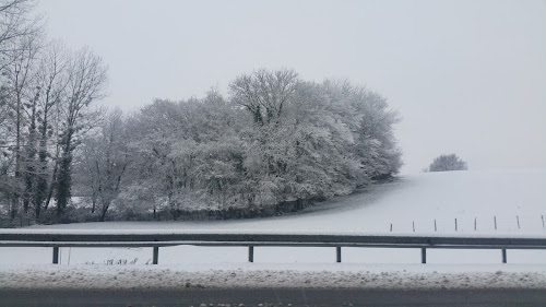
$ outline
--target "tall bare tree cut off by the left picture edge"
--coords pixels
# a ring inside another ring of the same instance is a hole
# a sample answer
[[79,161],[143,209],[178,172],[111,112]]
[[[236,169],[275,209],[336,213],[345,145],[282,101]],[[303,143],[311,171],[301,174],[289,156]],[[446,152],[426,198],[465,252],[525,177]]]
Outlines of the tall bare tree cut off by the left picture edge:
[[[26,167],[26,160],[32,160],[34,152],[23,147],[28,145],[25,135],[33,135],[25,128],[33,120],[36,93],[31,83],[43,28],[40,17],[32,14],[34,7],[33,0],[0,0],[0,182],[10,199],[12,219],[19,212],[21,197],[26,199],[26,175],[33,172]],[[25,211],[27,205],[24,201]]]

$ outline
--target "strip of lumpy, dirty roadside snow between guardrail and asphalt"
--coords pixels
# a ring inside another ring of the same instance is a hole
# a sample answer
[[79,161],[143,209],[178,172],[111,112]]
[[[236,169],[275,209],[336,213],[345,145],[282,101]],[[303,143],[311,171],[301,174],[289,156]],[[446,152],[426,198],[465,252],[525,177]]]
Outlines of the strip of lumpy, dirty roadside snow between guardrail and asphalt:
[[546,265],[7,265],[1,288],[545,288]]

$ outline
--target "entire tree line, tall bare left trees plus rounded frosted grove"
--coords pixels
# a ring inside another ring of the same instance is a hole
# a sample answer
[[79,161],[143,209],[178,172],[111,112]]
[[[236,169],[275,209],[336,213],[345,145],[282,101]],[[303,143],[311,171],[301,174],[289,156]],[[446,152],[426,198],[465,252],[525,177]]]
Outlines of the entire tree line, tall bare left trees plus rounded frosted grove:
[[[27,1],[0,1],[28,10]],[[402,166],[399,116],[365,87],[258,70],[233,80],[227,96],[211,90],[130,115],[99,110],[100,58],[44,42],[37,22],[14,20],[23,33],[0,40],[5,225],[272,215]]]

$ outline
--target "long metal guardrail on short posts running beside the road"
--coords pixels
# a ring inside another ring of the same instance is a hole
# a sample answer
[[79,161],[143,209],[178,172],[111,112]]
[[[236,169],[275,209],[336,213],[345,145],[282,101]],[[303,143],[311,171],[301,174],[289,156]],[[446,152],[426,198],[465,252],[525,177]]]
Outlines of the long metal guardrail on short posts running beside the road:
[[52,263],[59,263],[59,247],[153,247],[153,264],[158,263],[159,247],[245,246],[253,262],[254,246],[335,247],[342,261],[342,247],[420,248],[422,263],[427,249],[500,249],[507,263],[507,249],[546,249],[546,237],[449,237],[331,234],[239,234],[239,233],[37,233],[0,231],[0,247],[52,247]]

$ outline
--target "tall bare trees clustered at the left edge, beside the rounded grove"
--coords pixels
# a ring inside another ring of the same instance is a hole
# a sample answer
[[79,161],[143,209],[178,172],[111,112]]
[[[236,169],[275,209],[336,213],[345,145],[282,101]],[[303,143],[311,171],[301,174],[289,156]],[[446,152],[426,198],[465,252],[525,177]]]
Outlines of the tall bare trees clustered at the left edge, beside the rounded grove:
[[54,203],[63,215],[73,155],[107,84],[100,58],[48,42],[33,7],[0,0],[0,204],[10,220],[39,220]]

